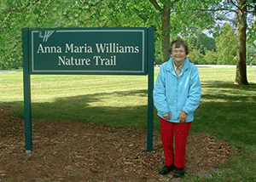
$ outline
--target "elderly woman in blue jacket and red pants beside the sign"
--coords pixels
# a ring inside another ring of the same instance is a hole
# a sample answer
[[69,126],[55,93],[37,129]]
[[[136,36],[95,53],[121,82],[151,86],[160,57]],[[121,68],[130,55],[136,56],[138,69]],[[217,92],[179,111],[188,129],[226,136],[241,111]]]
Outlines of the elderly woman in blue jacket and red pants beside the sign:
[[183,40],[173,41],[170,54],[172,58],[160,66],[154,85],[154,105],[160,117],[161,139],[166,157],[166,165],[160,174],[165,175],[175,170],[174,177],[179,178],[185,173],[186,144],[194,111],[201,100],[201,83],[197,67],[187,58],[187,43]]

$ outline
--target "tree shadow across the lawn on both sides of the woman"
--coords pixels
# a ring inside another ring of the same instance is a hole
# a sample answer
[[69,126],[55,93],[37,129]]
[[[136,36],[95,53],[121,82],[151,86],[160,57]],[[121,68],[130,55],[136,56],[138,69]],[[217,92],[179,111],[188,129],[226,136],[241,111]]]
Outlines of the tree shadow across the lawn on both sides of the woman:
[[[191,131],[215,134],[236,144],[256,143],[256,86],[239,86],[232,82],[202,82],[201,105],[195,111]],[[101,94],[85,94],[56,98],[54,102],[32,103],[32,117],[43,121],[84,121],[110,124],[116,127],[146,128],[148,104],[122,106],[125,100],[145,99],[148,90],[131,90]],[[108,106],[91,106],[101,103],[102,97],[118,100]],[[24,116],[23,103],[6,103],[15,106],[15,115]],[[154,128],[160,128],[154,109]]]

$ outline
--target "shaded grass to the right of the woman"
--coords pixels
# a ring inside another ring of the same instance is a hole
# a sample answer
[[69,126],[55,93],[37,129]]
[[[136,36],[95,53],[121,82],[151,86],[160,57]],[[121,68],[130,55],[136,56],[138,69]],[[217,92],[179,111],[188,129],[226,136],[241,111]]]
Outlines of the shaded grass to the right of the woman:
[[203,82],[202,90],[192,131],[216,134],[241,145],[255,145],[256,85]]

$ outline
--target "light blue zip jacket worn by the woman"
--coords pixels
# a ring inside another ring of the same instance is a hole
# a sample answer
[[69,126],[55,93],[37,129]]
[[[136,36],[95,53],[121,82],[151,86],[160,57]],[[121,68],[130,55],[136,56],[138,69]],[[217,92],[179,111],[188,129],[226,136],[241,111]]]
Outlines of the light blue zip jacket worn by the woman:
[[[160,66],[159,76],[154,85],[154,105],[160,117],[171,113],[169,122],[178,122],[181,111],[188,114],[187,122],[194,120],[194,111],[201,100],[201,83],[197,67],[184,60],[178,78],[173,66],[173,58]],[[162,117],[164,118],[164,117]]]

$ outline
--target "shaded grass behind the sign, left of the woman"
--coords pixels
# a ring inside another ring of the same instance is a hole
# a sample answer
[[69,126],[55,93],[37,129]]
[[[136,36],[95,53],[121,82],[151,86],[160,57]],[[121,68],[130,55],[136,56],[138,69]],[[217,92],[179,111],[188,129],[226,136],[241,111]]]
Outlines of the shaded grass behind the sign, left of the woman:
[[[56,98],[54,102],[32,103],[32,118],[41,121],[84,121],[110,124],[116,127],[146,128],[148,122],[148,105],[124,105],[148,97],[148,90],[131,90],[111,93],[85,94],[73,97]],[[92,106],[101,103],[102,98],[113,101],[113,105]],[[92,105],[91,105],[92,104]],[[8,103],[15,105],[15,115],[24,117],[22,102]]]

